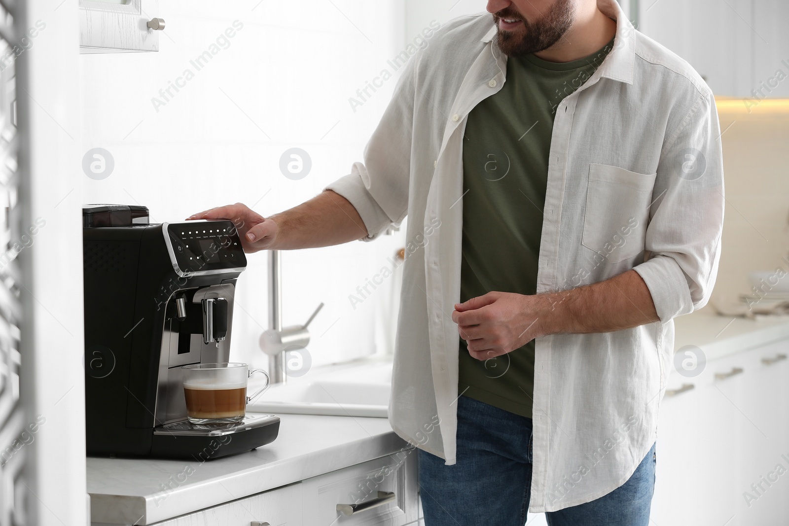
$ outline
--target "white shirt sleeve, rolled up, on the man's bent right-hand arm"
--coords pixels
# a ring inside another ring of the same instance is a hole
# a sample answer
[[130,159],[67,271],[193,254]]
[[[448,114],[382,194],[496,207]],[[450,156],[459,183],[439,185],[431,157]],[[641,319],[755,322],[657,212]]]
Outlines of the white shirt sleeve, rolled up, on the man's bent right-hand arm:
[[712,94],[700,95],[660,155],[641,275],[667,322],[703,307],[712,293],[724,222],[720,125]]

